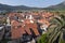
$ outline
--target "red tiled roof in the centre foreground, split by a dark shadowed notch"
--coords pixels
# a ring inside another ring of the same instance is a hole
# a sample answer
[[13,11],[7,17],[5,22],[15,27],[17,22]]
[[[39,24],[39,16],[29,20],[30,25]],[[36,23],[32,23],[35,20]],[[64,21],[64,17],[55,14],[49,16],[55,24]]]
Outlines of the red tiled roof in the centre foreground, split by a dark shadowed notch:
[[37,24],[26,24],[25,30],[28,32],[28,34],[31,34],[30,28],[34,31],[35,35],[39,35]]

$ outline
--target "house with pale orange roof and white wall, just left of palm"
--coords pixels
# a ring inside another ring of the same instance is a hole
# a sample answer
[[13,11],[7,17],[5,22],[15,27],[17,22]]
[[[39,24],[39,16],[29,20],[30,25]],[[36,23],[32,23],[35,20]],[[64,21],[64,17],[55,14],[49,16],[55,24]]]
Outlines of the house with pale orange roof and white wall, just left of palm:
[[47,32],[47,28],[50,26],[50,23],[47,19],[39,19],[38,23],[40,24],[42,33]]

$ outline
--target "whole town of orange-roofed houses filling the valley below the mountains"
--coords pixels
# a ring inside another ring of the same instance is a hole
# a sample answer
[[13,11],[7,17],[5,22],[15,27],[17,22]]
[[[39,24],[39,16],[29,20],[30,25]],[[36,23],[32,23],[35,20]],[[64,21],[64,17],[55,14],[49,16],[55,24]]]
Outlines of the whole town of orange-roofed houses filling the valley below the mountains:
[[0,15],[0,42],[36,43],[46,33],[54,13],[48,11],[11,12]]

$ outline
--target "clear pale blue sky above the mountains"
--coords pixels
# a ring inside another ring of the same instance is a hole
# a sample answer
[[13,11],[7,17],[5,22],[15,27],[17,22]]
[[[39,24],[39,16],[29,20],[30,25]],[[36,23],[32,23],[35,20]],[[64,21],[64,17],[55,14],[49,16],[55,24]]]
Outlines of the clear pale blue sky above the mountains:
[[27,5],[35,8],[46,8],[58,4],[63,1],[64,0],[0,0],[0,3],[9,5]]

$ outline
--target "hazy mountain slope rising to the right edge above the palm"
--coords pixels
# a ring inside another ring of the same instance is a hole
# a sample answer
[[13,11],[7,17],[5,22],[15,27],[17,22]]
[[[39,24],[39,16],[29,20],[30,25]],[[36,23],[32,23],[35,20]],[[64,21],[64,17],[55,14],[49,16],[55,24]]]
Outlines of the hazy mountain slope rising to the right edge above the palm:
[[56,11],[63,10],[63,11],[65,11],[65,1],[60,4],[56,4],[56,5],[51,5],[51,6],[44,8],[43,10],[56,10]]

